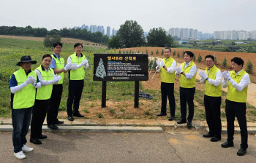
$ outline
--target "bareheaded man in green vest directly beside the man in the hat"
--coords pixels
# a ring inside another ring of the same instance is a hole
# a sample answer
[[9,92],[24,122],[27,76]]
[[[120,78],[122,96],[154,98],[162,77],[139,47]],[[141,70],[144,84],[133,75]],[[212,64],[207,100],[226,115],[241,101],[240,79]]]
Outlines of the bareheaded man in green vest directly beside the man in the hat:
[[52,68],[49,68],[52,57],[49,54],[42,56],[42,65],[35,70],[41,83],[40,89],[37,90],[36,100],[34,103],[31,119],[30,142],[42,144],[41,140],[47,138],[42,135],[42,124],[45,121],[46,111],[49,105],[50,95],[53,90],[53,84],[58,83],[61,76],[54,75]]

